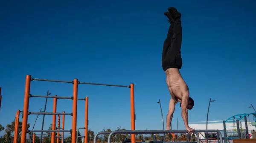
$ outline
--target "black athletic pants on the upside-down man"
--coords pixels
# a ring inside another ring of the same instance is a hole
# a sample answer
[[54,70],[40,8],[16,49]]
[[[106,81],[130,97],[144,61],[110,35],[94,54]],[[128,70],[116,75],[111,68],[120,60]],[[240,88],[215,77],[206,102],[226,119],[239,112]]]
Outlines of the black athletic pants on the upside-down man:
[[162,67],[164,71],[166,71],[169,68],[181,69],[181,39],[181,21],[179,18],[177,18],[175,22],[172,22],[172,24],[170,25],[167,38],[163,43]]

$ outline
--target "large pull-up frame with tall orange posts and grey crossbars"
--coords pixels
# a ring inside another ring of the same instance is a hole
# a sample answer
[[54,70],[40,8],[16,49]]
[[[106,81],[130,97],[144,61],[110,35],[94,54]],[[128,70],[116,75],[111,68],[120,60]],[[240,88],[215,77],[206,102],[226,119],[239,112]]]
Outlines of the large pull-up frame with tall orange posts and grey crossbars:
[[[30,94],[30,84],[31,81],[52,81],[52,82],[64,82],[64,83],[71,83],[73,84],[73,97],[67,98],[67,97],[53,97],[53,96],[40,96],[40,95],[31,95]],[[22,131],[21,131],[21,141],[20,143],[26,143],[26,133],[27,132],[52,132],[52,143],[54,143],[54,136],[55,132],[60,132],[59,130],[55,130],[55,126],[52,125],[52,130],[27,130],[27,122],[28,122],[28,115],[29,114],[39,114],[36,112],[29,112],[29,98],[31,97],[41,97],[41,98],[54,98],[58,99],[72,99],[73,100],[73,112],[72,113],[64,113],[64,115],[72,115],[72,129],[70,130],[62,130],[61,132],[71,132],[71,143],[76,143],[76,123],[77,123],[77,100],[78,99],[78,84],[93,84],[93,85],[103,85],[103,86],[113,86],[113,87],[128,87],[130,88],[130,98],[131,98],[131,130],[135,130],[135,108],[134,108],[134,84],[130,84],[129,86],[125,85],[114,85],[114,84],[97,84],[97,83],[89,83],[89,82],[80,82],[78,79],[74,79],[73,81],[60,81],[60,80],[48,80],[48,79],[35,79],[32,78],[31,75],[26,75],[26,86],[25,86],[25,97],[24,97],[24,107],[23,107],[23,121],[22,121]],[[63,115],[63,113],[56,113],[56,109],[54,112],[47,112],[44,114],[44,112],[40,112],[40,114],[44,115],[53,115],[53,120],[56,115]],[[85,131],[87,130],[88,120],[85,120]],[[87,122],[87,123],[86,123]],[[85,132],[86,135],[87,132]],[[87,140],[87,135],[85,137],[85,140]],[[131,134],[131,143],[135,143],[135,134]]]

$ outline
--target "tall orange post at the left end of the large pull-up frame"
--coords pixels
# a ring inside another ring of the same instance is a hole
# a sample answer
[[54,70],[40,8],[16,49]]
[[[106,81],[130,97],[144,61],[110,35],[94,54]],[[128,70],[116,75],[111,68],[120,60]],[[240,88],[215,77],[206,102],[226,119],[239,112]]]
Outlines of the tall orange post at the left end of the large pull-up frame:
[[31,75],[27,75],[26,76],[26,86],[25,86],[24,107],[23,107],[23,113],[22,113],[23,120],[22,120],[20,143],[26,143],[26,132],[27,132],[27,124],[28,124],[28,112],[29,112],[30,82],[31,82]]

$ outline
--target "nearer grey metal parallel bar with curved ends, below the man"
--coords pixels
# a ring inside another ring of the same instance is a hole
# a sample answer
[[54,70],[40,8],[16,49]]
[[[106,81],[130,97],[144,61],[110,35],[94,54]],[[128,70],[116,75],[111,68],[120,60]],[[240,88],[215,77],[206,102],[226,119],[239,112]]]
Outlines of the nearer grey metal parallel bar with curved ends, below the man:
[[[111,137],[114,134],[142,134],[142,133],[147,133],[147,134],[163,134],[163,133],[187,133],[187,130],[116,130],[111,132],[108,135],[108,143],[111,143]],[[194,130],[194,132],[217,132],[219,137],[222,139],[221,132],[219,130]],[[192,142],[193,143],[193,142]],[[223,143],[223,140],[221,140],[221,143]]]

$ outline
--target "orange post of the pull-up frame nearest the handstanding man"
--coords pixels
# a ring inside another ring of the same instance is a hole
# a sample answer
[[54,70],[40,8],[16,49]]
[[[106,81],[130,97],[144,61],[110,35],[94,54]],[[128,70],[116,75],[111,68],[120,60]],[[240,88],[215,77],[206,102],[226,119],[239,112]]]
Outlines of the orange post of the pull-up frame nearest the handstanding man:
[[[135,130],[134,84],[131,86],[131,130]],[[131,134],[131,143],[135,143],[135,134]]]

